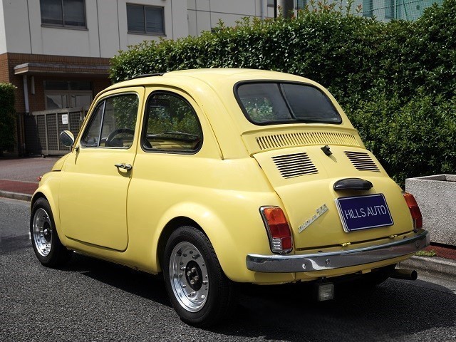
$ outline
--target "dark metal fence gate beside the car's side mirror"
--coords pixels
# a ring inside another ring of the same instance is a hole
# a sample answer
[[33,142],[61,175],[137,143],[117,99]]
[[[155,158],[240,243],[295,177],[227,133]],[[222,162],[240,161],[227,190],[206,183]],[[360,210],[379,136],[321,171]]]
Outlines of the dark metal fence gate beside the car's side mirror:
[[26,151],[35,155],[65,155],[69,147],[61,145],[60,133],[70,130],[75,136],[86,117],[88,108],[42,110],[24,117]]

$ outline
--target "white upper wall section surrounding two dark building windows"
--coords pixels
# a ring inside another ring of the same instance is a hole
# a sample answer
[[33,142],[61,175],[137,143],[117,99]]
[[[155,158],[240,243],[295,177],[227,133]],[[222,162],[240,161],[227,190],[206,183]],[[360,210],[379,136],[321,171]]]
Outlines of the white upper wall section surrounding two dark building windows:
[[0,0],[0,53],[110,58],[129,45],[158,40],[128,33],[127,3],[164,7],[164,38],[188,36],[185,0],[86,0],[83,29],[41,26],[39,0]]

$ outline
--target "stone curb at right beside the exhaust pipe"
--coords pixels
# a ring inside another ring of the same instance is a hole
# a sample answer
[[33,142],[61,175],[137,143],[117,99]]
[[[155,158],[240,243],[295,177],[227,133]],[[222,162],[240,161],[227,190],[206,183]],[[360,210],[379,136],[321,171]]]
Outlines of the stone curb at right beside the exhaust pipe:
[[398,266],[403,266],[418,271],[423,271],[434,276],[456,278],[456,261],[438,257],[411,257],[402,261]]

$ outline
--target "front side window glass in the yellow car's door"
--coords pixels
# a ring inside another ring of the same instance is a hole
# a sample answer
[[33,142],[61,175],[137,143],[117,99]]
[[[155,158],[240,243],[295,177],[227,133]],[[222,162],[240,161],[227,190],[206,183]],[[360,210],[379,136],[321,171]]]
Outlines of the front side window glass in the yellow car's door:
[[93,111],[81,145],[128,148],[135,138],[139,99],[135,94],[105,98]]

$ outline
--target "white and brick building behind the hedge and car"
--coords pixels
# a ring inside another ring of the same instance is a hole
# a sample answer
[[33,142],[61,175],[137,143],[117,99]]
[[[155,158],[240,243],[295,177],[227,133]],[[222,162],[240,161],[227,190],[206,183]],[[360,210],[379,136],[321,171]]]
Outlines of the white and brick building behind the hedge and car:
[[[389,20],[432,2],[356,0],[353,6],[362,6],[359,15]],[[220,20],[232,26],[246,16],[274,18],[277,4],[297,14],[310,1],[0,0],[0,82],[17,88],[15,152],[63,153],[59,130],[78,130],[96,93],[109,86],[109,61],[118,51],[197,36]]]

